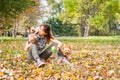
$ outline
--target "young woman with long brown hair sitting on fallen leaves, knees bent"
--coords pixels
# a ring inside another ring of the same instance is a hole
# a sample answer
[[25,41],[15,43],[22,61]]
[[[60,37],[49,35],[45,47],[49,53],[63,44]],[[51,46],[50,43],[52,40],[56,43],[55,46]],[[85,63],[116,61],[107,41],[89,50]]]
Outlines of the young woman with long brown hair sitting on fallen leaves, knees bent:
[[[37,41],[40,49],[38,49],[36,44],[26,45],[25,49],[28,50],[28,60],[35,60],[38,63],[38,67],[44,66],[45,62],[42,59],[46,60],[52,54],[51,47],[56,45],[57,55],[63,62],[70,64],[70,62],[64,57],[61,46],[62,43],[54,38],[50,25],[43,24],[40,26],[39,32],[37,34]],[[46,44],[50,44],[47,48]]]

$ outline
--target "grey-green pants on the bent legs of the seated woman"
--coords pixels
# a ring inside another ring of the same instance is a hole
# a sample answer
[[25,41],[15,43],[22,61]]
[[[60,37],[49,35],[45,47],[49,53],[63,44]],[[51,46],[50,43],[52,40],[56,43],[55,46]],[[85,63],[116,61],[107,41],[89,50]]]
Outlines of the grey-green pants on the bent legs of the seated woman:
[[[40,50],[38,50],[36,44],[32,44],[30,49],[29,49],[27,59],[29,61],[36,60],[36,59],[44,59],[44,60],[48,59],[52,55],[52,51],[51,51],[52,46],[54,46],[54,44],[50,44],[43,51],[40,51]],[[61,49],[57,52],[57,55],[59,57],[64,57]]]

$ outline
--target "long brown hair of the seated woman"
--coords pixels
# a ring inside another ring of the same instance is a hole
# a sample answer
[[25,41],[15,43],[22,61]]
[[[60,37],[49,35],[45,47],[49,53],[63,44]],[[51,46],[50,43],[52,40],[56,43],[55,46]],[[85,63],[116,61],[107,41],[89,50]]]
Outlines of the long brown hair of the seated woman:
[[45,35],[45,37],[47,38],[47,43],[49,43],[51,39],[54,39],[54,36],[53,36],[53,34],[52,34],[51,27],[50,27],[50,25],[48,25],[48,24],[43,24],[43,25],[41,25],[41,26],[44,27],[44,31],[45,31],[45,33],[47,33],[47,34]]

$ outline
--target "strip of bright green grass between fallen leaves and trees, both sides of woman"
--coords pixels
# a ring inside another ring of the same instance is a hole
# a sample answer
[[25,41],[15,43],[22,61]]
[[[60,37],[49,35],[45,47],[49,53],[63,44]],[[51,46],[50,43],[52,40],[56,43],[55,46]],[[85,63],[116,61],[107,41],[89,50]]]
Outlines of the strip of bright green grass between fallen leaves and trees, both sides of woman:
[[[56,37],[62,42],[73,42],[73,43],[111,43],[118,44],[120,43],[120,36],[93,36],[93,37]],[[1,41],[26,41],[27,38],[11,38],[11,37],[0,37]]]

